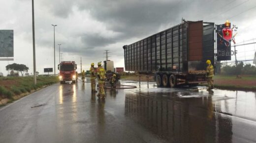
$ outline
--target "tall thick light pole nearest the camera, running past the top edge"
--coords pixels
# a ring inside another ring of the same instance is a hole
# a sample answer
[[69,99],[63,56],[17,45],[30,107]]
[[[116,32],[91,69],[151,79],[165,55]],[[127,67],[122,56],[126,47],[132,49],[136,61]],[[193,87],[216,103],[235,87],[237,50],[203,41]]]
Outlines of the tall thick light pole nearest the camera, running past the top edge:
[[33,33],[33,74],[34,84],[36,84],[36,70],[35,70],[35,40],[34,40],[34,0],[32,0],[32,33]]

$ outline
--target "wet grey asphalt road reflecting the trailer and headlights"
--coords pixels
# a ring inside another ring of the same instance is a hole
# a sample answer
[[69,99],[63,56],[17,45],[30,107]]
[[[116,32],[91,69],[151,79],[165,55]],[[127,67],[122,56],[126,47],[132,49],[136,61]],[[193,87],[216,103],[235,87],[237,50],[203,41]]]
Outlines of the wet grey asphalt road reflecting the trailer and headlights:
[[47,87],[0,108],[0,143],[256,142],[256,93],[142,84],[105,100],[90,83]]

